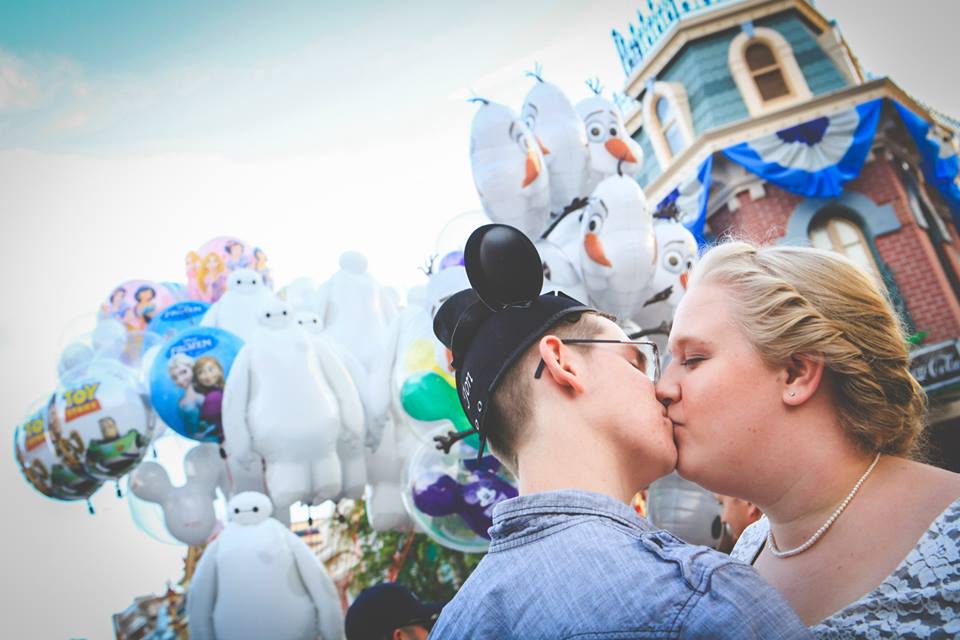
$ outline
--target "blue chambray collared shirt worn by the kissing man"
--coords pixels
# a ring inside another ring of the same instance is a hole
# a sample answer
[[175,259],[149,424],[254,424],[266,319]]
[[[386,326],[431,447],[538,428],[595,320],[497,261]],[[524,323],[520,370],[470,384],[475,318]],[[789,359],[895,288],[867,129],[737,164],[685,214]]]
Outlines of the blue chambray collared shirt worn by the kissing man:
[[751,567],[681,542],[610,496],[505,500],[490,536],[431,640],[812,637]]

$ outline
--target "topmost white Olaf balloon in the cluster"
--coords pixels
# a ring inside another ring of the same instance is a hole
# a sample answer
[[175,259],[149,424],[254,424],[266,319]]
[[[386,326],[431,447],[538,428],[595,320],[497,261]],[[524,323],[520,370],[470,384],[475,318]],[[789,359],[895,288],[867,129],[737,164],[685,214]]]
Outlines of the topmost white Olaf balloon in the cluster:
[[539,79],[527,94],[520,117],[547,150],[550,210],[558,214],[574,198],[589,193],[590,151],[583,120],[558,86]]

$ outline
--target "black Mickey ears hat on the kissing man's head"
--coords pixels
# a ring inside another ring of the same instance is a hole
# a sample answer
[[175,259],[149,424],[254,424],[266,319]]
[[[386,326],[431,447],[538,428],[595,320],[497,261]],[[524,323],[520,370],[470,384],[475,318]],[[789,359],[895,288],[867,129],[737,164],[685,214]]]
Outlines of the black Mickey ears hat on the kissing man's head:
[[[433,332],[453,352],[457,395],[470,424],[486,443],[484,418],[503,375],[564,316],[594,311],[554,292],[540,295],[543,265],[536,247],[505,224],[476,229],[464,249],[470,289],[451,296],[433,320]],[[469,434],[438,438],[438,448]]]

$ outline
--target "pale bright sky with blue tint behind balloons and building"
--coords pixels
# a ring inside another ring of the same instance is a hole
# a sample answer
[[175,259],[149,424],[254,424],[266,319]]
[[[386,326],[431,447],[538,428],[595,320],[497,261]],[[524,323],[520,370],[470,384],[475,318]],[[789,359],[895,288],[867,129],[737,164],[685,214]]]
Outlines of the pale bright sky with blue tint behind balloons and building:
[[[115,284],[183,281],[217,235],[263,247],[281,285],[351,249],[385,285],[422,283],[440,230],[480,206],[466,99],[519,110],[535,63],[574,102],[590,77],[621,90],[610,29],[639,2],[0,0],[0,423],[55,389]],[[956,2],[816,6],[867,70],[960,117]],[[184,549],[111,487],[90,516],[11,453],[0,490],[5,636],[111,637],[112,613],[180,576]]]

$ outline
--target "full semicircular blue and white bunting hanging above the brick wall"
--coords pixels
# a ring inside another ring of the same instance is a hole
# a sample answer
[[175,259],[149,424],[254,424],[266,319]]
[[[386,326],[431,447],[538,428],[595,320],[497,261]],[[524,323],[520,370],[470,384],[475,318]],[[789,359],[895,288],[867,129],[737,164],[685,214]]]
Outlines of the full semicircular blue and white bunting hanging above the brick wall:
[[863,169],[880,121],[871,100],[724,149],[730,160],[778,187],[808,198],[835,198]]

